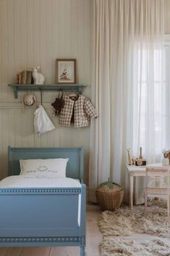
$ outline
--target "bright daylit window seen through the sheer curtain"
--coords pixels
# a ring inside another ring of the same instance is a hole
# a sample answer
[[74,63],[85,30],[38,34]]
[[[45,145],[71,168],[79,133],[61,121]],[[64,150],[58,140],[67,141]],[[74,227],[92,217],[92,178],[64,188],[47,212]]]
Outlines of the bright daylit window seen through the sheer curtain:
[[170,75],[169,80],[166,76],[169,49],[165,46],[164,50],[143,48],[135,52],[133,149],[138,152],[142,146],[150,162],[160,162],[162,149],[170,148]]

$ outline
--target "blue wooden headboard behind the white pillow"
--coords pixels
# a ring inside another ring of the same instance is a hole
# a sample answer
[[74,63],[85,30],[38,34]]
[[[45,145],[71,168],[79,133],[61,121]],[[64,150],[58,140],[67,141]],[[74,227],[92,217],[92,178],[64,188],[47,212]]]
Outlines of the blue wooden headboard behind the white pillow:
[[20,174],[21,159],[69,158],[66,176],[83,180],[83,147],[11,147],[8,146],[8,175]]

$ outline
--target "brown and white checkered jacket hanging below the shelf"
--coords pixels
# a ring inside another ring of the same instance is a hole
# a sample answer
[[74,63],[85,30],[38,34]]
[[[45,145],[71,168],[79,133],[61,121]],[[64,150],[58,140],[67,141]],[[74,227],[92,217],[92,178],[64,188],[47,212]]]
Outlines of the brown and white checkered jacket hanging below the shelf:
[[75,102],[69,98],[69,95],[65,95],[63,99],[64,107],[59,115],[60,125],[70,126],[73,110],[75,114],[75,128],[88,126],[90,125],[90,117],[98,117],[95,107],[85,96],[79,94],[79,98]]

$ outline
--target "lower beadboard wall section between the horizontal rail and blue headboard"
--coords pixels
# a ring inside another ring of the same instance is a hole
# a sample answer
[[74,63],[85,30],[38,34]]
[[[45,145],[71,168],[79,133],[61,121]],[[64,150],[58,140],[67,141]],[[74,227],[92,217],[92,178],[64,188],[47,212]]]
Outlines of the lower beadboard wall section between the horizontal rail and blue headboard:
[[34,107],[25,109],[19,105],[10,109],[0,109],[0,141],[1,141],[1,178],[7,176],[7,146],[84,146],[85,147],[85,181],[88,182],[88,146],[89,128],[61,127],[58,117],[51,115],[51,107],[46,107],[46,112],[51,117],[56,129],[41,136],[33,133]]

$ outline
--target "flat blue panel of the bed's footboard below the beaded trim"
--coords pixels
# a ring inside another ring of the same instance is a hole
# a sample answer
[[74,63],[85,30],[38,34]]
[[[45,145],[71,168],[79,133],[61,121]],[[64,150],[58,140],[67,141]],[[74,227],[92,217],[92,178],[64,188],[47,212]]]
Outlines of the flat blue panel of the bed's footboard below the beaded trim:
[[64,236],[64,228],[67,236],[79,236],[78,198],[71,192],[1,195],[0,205],[5,207],[0,211],[0,236],[15,236],[16,231],[20,236]]

